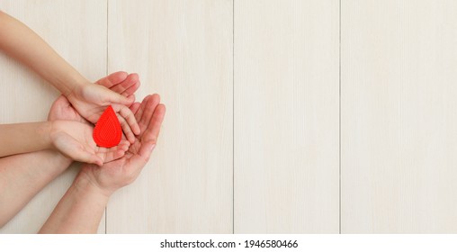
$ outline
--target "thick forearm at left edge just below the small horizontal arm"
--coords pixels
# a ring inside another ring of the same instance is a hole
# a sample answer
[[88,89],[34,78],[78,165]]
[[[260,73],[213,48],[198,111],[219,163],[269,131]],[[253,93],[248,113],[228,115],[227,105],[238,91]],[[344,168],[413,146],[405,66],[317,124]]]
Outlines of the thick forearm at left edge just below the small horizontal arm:
[[52,150],[0,158],[0,227],[71,162]]

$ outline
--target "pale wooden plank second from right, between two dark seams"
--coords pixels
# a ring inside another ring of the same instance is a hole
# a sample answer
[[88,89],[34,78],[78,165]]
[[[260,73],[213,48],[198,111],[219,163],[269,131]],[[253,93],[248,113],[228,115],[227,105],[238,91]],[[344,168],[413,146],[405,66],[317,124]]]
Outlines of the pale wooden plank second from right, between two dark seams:
[[338,232],[338,1],[235,2],[235,232]]

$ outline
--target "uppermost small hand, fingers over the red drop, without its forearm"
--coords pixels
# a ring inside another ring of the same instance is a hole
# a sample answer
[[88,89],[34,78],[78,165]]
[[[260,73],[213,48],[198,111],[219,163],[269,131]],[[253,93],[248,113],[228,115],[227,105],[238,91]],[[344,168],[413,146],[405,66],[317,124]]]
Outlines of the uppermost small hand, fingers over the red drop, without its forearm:
[[133,112],[127,107],[134,102],[133,96],[124,96],[111,91],[103,85],[88,83],[78,85],[67,94],[67,100],[76,111],[87,121],[96,123],[108,105],[112,105],[117,112],[122,130],[131,143],[135,141],[135,135],[139,134],[139,125]]

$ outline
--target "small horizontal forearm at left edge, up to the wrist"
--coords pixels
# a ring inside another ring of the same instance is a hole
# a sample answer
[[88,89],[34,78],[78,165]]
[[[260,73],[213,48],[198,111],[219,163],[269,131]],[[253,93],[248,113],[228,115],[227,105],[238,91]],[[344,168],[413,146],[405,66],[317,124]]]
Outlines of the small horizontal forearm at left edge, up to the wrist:
[[0,157],[51,148],[51,129],[51,121],[0,125]]

